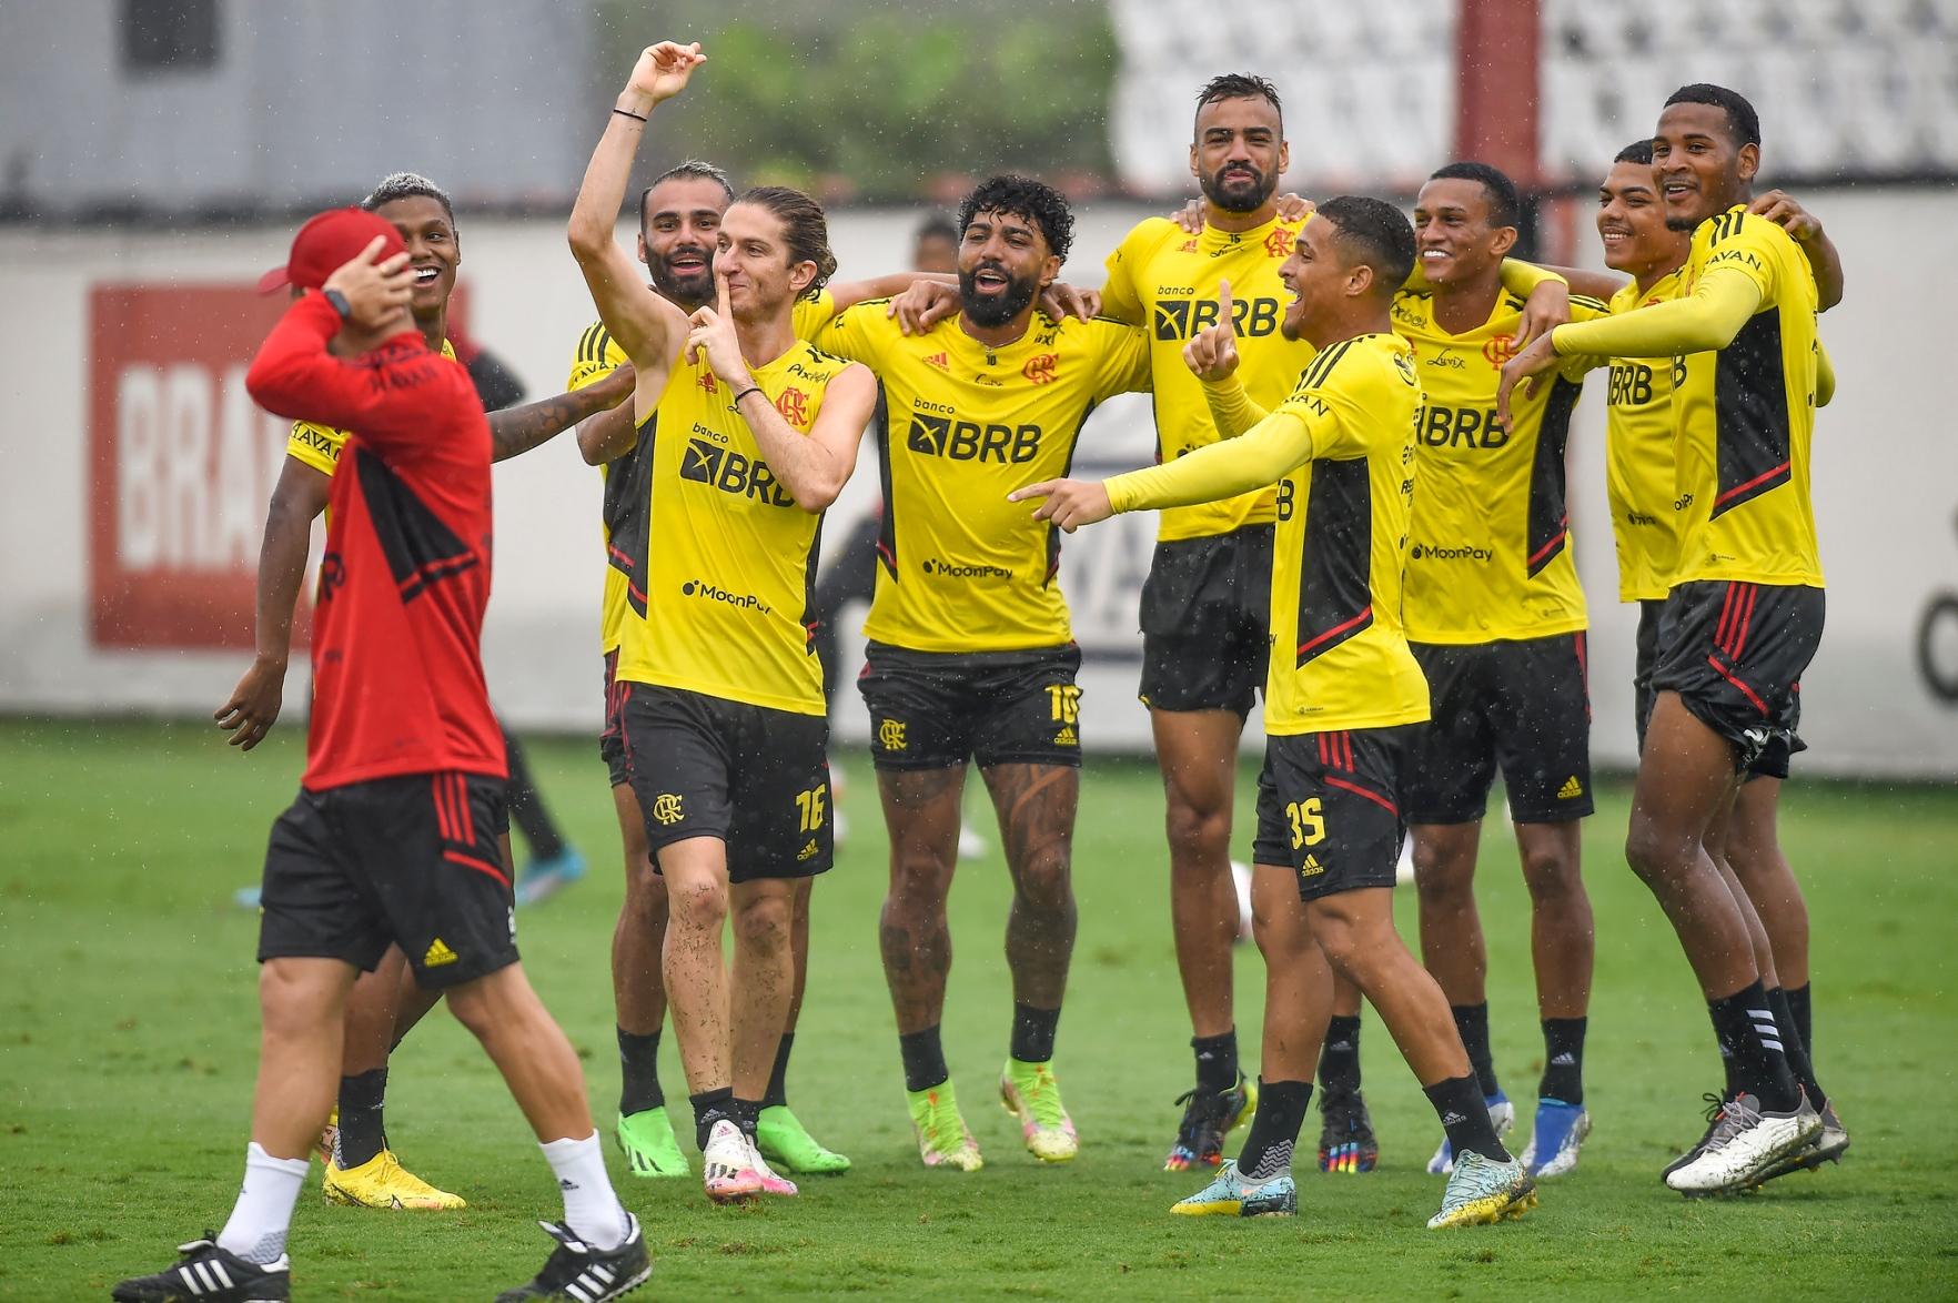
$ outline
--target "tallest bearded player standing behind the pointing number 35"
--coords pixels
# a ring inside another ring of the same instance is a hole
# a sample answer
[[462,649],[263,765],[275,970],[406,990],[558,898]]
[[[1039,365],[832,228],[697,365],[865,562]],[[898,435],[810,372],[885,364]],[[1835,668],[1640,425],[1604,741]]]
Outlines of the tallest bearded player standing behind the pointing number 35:
[[[1102,311],[1149,329],[1155,387],[1157,460],[1171,462],[1218,440],[1202,385],[1183,364],[1183,346],[1214,325],[1218,290],[1230,286],[1234,333],[1253,401],[1275,407],[1312,360],[1312,344],[1279,331],[1284,288],[1279,268],[1292,252],[1302,219],[1277,209],[1279,176],[1290,166],[1279,92],[1261,76],[1210,78],[1196,96],[1190,174],[1204,194],[1204,225],[1189,235],[1151,217],[1108,256]],[[1232,943],[1237,896],[1230,869],[1232,792],[1237,740],[1267,661],[1271,534],[1277,489],[1194,503],[1159,518],[1149,577],[1142,589],[1142,683],[1149,730],[1163,773],[1169,837],[1169,920],[1177,970],[1190,1013],[1196,1084],[1163,1166],[1181,1172],[1218,1166],[1224,1137],[1255,1109],[1255,1088],[1237,1068],[1232,1015]],[[1290,873],[1253,898],[1269,918],[1292,918],[1304,935]],[[1253,910],[1253,918],[1257,912]],[[1277,937],[1267,953],[1267,1047],[1282,1033],[1288,982]],[[1263,945],[1261,945],[1263,949]],[[1310,1076],[1310,1066],[1290,1076]],[[1328,1127],[1373,1143],[1357,1092],[1322,1096]]]

